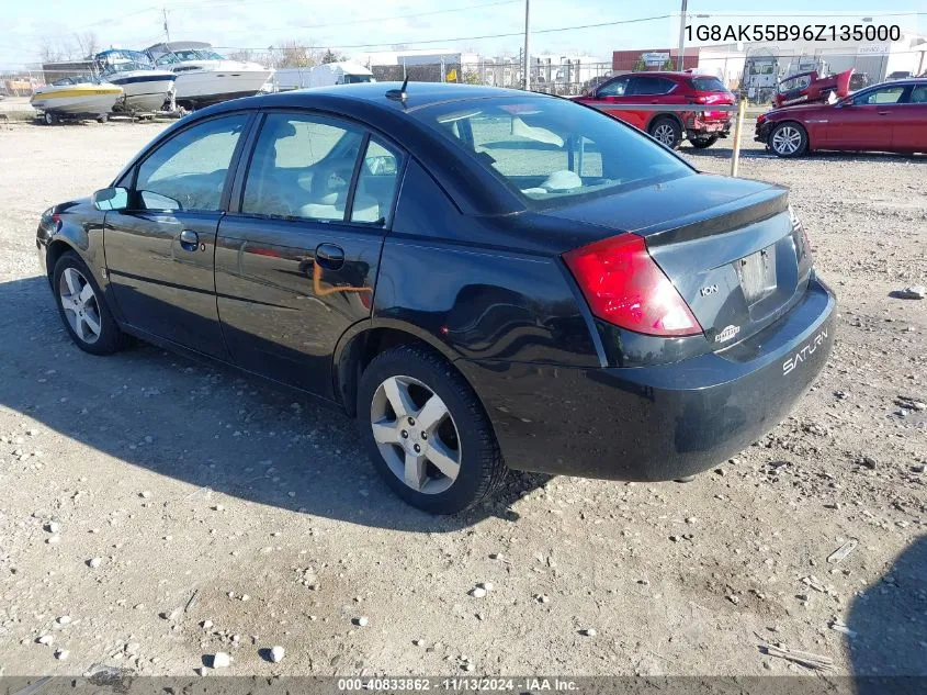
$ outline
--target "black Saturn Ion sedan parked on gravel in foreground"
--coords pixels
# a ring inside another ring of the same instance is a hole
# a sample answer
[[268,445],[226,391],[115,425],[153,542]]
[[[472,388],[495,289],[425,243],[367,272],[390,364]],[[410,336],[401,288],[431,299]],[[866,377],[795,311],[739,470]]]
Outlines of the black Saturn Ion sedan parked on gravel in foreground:
[[314,394],[454,513],[507,468],[685,477],[782,418],[835,306],[787,198],[566,100],[372,83],[197,111],[37,247],[81,349]]

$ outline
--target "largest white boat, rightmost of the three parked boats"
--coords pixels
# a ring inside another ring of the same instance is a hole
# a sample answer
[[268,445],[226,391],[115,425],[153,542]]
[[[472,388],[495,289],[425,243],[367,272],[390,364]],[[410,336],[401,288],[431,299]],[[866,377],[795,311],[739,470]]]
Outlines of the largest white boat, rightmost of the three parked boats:
[[265,89],[273,68],[257,63],[229,60],[199,41],[174,41],[146,49],[156,68],[177,76],[174,99],[179,107],[200,109],[210,104],[250,97]]

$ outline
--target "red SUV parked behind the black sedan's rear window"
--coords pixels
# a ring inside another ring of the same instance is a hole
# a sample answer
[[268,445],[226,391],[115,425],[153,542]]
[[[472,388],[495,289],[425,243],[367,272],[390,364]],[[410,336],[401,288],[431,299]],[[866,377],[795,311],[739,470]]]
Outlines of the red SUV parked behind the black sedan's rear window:
[[710,147],[731,130],[730,111],[619,111],[611,104],[732,105],[734,94],[720,79],[691,72],[631,72],[620,75],[577,97],[576,101],[604,111],[676,148],[688,137],[694,147]]

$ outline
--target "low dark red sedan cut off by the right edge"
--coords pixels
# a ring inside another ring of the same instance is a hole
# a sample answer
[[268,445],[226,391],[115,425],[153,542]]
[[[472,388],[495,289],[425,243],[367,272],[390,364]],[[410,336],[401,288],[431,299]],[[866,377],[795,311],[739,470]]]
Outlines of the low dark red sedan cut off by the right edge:
[[780,157],[815,149],[927,153],[927,79],[867,87],[833,104],[773,109],[756,139]]

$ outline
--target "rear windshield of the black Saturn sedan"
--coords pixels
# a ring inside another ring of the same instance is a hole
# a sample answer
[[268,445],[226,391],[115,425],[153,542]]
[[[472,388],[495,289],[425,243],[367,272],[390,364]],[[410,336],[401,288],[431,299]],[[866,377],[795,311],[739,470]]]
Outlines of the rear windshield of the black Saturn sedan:
[[544,208],[692,173],[641,133],[566,99],[474,99],[414,114]]

